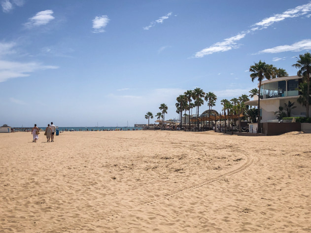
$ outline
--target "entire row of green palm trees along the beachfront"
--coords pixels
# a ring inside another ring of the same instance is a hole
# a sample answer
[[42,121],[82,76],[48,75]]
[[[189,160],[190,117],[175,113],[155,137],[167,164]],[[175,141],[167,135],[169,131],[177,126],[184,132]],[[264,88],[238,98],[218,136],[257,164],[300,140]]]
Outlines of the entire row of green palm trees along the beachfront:
[[[302,103],[306,106],[307,117],[309,117],[309,105],[311,104],[311,97],[310,97],[310,79],[311,79],[311,54],[305,53],[304,55],[299,55],[297,58],[297,63],[292,65],[293,67],[299,68],[297,72],[298,76],[303,76],[303,83],[299,86],[299,91],[302,93],[298,102]],[[248,101],[248,97],[254,97],[255,95],[258,96],[258,108],[260,109],[260,89],[261,83],[264,79],[270,80],[271,78],[276,77],[284,77],[288,76],[288,73],[283,68],[276,68],[274,65],[267,64],[262,62],[261,60],[258,63],[254,63],[254,65],[249,67],[249,71],[251,72],[250,77],[252,82],[257,80],[259,82],[259,89],[254,88],[249,91],[249,95],[242,95],[239,98],[233,98],[232,100],[221,100],[221,105],[223,106],[222,110],[227,115],[239,115],[240,121],[240,114],[242,113],[245,115],[245,110],[247,106],[245,106],[244,102]],[[189,129],[190,129],[190,110],[196,107],[196,115],[199,117],[199,108],[204,104],[204,100],[207,101],[208,112],[210,114],[210,110],[216,104],[217,97],[214,93],[208,92],[205,93],[201,88],[195,88],[194,90],[187,90],[182,95],[179,95],[176,98],[176,112],[180,114],[180,128],[182,126],[182,113],[184,112],[184,116],[189,117]],[[161,112],[158,112],[156,117],[160,119],[162,117],[162,126],[164,125],[164,118],[165,114],[167,113],[168,107],[165,103],[162,103],[159,107]],[[186,114],[186,111],[189,111],[189,114]],[[257,119],[258,119],[258,126],[260,124],[260,111],[257,110]],[[153,114],[151,112],[147,112],[145,118],[149,119],[153,118]],[[225,121],[226,124],[226,121]],[[197,126],[199,128],[199,121],[197,121]],[[209,125],[210,127],[210,125]],[[260,133],[260,128],[259,133]]]

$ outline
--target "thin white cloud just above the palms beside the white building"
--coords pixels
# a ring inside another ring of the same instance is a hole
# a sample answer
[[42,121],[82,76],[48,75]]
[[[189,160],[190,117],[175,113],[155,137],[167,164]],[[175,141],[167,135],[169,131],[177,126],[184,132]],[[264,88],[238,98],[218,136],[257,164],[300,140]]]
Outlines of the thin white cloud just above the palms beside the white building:
[[299,52],[311,49],[311,39],[305,39],[293,43],[292,45],[280,45],[270,49],[264,49],[259,53],[281,53],[281,52]]

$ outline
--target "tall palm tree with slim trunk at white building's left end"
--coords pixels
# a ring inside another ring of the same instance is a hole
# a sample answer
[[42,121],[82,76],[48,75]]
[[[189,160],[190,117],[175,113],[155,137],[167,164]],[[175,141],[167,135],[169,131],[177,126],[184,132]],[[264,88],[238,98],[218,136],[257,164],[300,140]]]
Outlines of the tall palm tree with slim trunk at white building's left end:
[[[252,82],[254,82],[254,80],[256,78],[259,81],[258,93],[260,93],[261,82],[263,81],[264,78],[270,80],[271,78],[276,77],[276,72],[275,72],[274,66],[266,64],[265,62],[262,62],[261,60],[258,63],[254,63],[253,66],[250,66],[249,71],[252,72],[250,74]],[[258,110],[258,133],[261,133],[261,127],[260,127],[260,96],[258,98],[258,109],[259,109]]]

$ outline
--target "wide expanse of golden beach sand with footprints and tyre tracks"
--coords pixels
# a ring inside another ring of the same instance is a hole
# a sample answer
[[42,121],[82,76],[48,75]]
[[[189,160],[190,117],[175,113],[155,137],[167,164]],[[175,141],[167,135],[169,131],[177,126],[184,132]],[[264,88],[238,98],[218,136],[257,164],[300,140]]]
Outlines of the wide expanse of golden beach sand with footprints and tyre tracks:
[[0,134],[0,233],[311,232],[311,134]]

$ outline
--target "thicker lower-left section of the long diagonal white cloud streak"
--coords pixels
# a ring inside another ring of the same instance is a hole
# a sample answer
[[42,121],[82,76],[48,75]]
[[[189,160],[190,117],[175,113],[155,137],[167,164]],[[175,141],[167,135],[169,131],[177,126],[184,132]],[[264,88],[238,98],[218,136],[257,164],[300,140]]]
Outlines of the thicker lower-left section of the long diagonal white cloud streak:
[[202,58],[205,55],[217,53],[217,52],[225,52],[231,49],[239,48],[239,45],[236,41],[242,39],[245,36],[245,33],[239,33],[235,36],[224,39],[222,42],[217,42],[195,54],[195,58]]

